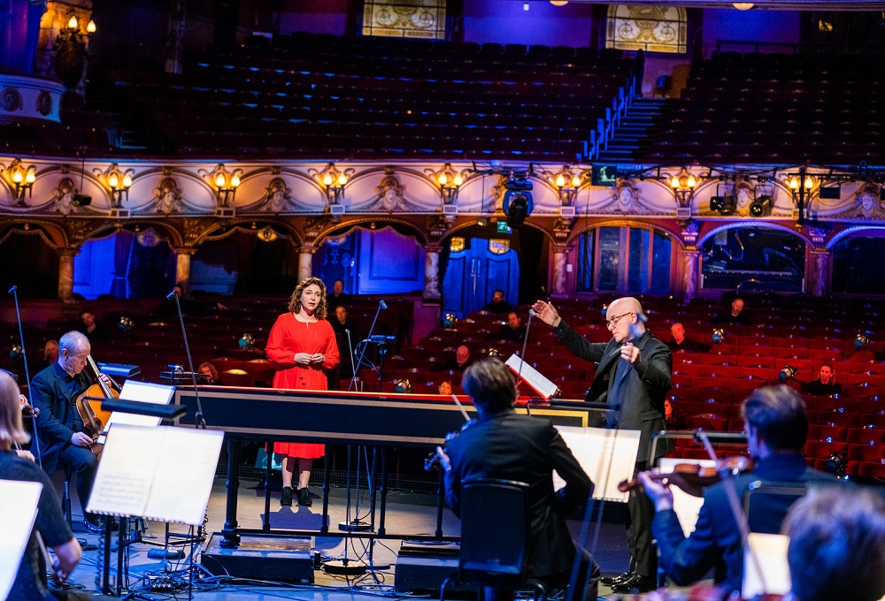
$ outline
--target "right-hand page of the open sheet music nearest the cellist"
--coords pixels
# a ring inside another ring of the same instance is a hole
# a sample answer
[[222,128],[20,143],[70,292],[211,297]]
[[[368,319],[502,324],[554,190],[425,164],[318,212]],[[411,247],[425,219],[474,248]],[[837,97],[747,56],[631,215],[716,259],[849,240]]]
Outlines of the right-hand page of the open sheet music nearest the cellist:
[[144,516],[198,526],[203,522],[224,432],[163,428],[157,475]]

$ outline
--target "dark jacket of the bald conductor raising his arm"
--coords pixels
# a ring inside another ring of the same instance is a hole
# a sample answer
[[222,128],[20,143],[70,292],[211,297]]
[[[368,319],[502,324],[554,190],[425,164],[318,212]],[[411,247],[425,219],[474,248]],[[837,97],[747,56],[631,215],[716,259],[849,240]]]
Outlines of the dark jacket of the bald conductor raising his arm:
[[[651,438],[661,430],[666,430],[664,399],[670,390],[673,374],[673,355],[670,354],[669,347],[652,337],[649,331],[634,339],[633,344],[639,349],[639,362],[628,370],[620,386],[621,399],[614,399],[612,403],[608,393],[612,388],[622,345],[614,339],[608,342],[589,342],[573,331],[565,321],[561,321],[553,331],[573,354],[599,364],[593,384],[590,384],[587,400],[607,403],[616,410],[620,405],[620,419],[614,425],[623,430],[640,431],[636,462],[647,461]],[[602,426],[603,422],[596,422],[595,425]],[[673,441],[662,440],[658,443],[655,459],[672,449]]]

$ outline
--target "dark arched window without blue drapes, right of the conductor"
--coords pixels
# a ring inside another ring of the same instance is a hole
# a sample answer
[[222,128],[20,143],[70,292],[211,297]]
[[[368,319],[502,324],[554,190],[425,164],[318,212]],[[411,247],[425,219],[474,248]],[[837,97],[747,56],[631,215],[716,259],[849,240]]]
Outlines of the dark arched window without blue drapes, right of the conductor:
[[802,292],[805,241],[767,227],[733,227],[701,246],[703,287],[725,290]]

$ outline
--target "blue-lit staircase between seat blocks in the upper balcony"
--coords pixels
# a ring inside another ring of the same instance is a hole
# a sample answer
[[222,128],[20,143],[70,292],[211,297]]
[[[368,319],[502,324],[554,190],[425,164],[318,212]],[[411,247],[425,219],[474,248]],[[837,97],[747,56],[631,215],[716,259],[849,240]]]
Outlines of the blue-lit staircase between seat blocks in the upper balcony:
[[635,98],[606,148],[600,150],[598,162],[641,161],[649,154],[658,132],[670,121],[675,103],[666,98]]

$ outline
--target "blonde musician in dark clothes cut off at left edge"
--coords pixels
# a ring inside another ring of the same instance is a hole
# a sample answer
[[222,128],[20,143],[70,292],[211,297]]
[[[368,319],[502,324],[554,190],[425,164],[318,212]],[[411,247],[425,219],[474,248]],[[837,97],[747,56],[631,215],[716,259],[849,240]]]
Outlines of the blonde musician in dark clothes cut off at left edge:
[[86,594],[65,594],[51,591],[46,580],[46,564],[37,534],[58,558],[52,567],[58,580],[65,581],[80,563],[82,551],[80,543],[65,521],[61,501],[50,482],[49,476],[37,467],[33,460],[16,455],[13,445],[27,443],[28,436],[21,424],[19,386],[12,377],[0,371],[0,479],[36,482],[43,485],[37,504],[37,517],[34,529],[27,540],[25,554],[19,564],[19,571],[12,583],[10,599],[55,599],[89,598]]

